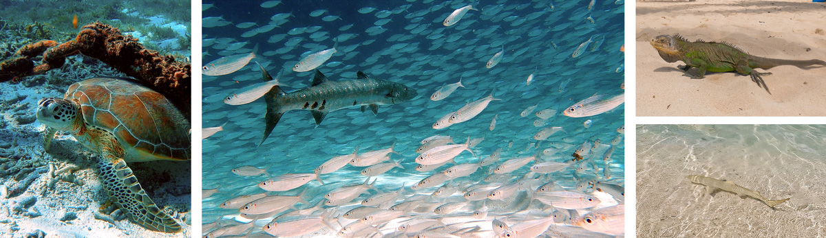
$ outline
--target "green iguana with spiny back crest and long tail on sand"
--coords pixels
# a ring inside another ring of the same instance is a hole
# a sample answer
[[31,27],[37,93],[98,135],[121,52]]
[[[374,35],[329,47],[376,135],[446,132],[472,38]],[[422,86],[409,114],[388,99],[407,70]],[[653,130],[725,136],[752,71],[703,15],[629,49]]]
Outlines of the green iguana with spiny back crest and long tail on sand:
[[[677,60],[686,63],[686,66],[681,65],[677,68],[686,71],[686,74],[692,78],[703,78],[705,72],[736,71],[751,76],[752,82],[765,88],[769,94],[771,91],[761,76],[769,75],[771,72],[757,72],[754,68],[769,69],[781,65],[804,68],[814,64],[826,66],[826,62],[819,59],[786,60],[757,57],[729,43],[703,40],[689,42],[680,35],[659,35],[651,40],[651,46],[657,49],[660,57],[668,63],[674,63]],[[696,68],[696,72],[689,72],[692,67]]]

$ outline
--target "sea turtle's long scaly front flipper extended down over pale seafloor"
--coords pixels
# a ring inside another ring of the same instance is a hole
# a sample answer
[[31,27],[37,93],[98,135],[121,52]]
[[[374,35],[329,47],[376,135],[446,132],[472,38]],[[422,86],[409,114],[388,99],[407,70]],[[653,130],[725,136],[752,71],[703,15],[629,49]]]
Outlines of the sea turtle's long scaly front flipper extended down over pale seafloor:
[[138,179],[132,174],[126,161],[122,158],[104,153],[98,161],[98,174],[103,181],[103,188],[117,199],[121,208],[126,208],[132,221],[153,231],[175,233],[181,231],[181,225],[161,211],[140,187]]

